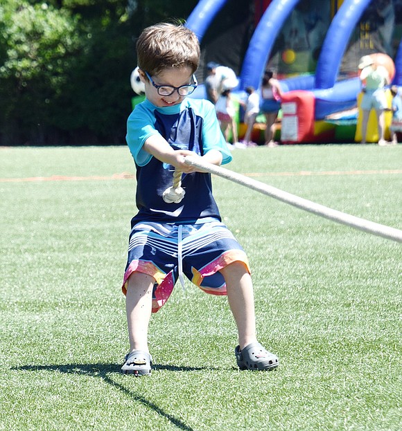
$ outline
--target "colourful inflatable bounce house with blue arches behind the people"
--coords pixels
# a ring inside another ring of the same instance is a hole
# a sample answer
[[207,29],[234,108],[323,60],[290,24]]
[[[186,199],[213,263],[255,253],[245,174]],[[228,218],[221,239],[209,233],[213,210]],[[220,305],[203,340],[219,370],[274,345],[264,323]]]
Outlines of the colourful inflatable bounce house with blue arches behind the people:
[[[360,140],[363,55],[389,57],[392,84],[402,86],[402,0],[200,0],[186,25],[202,49],[194,97],[205,96],[211,61],[236,72],[239,94],[276,71],[284,95],[268,103],[281,108],[282,143]],[[373,115],[367,142],[377,139]]]

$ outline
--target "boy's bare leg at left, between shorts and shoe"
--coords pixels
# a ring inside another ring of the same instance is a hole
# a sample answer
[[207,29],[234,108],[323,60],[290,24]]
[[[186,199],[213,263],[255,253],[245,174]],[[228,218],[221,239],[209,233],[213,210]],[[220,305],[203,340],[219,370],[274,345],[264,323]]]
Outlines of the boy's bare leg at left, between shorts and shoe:
[[152,288],[155,279],[148,274],[132,273],[125,297],[130,351],[148,351],[148,325],[152,313]]

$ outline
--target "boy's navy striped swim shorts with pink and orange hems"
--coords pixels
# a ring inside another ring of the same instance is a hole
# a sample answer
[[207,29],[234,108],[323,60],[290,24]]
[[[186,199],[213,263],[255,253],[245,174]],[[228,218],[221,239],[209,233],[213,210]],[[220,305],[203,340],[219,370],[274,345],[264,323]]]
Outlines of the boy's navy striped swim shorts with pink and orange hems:
[[243,262],[250,273],[247,255],[224,223],[217,219],[191,224],[139,222],[130,232],[128,260],[123,278],[138,271],[155,278],[152,312],[163,306],[183,274],[202,291],[226,295],[220,269]]

